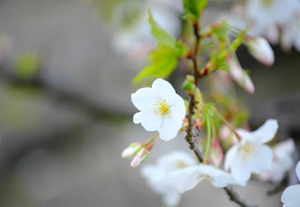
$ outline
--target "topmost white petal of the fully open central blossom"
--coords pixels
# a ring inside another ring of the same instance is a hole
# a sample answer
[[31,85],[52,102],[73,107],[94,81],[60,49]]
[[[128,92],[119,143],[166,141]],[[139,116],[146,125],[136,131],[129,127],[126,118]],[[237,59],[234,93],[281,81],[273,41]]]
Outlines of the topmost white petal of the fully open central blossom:
[[152,83],[152,88],[156,90],[168,104],[173,104],[176,92],[168,81],[157,78]]

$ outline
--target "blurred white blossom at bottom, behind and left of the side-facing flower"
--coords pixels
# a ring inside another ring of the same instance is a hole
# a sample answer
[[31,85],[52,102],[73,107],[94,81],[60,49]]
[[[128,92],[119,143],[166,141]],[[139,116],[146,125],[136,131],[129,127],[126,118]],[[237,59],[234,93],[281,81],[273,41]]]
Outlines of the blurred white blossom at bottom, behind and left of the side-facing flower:
[[140,173],[150,188],[162,196],[164,205],[176,206],[181,199],[181,193],[169,173],[196,163],[196,160],[189,153],[173,151],[161,156],[155,165],[142,166]]

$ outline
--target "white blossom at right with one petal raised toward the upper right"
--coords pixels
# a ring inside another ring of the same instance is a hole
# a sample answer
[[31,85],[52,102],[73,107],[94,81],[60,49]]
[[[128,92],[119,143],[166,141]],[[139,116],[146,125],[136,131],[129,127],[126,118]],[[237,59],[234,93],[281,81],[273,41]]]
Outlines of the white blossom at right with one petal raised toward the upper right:
[[268,119],[257,130],[249,132],[236,129],[241,139],[229,148],[225,155],[224,169],[231,170],[234,178],[249,180],[251,172],[262,173],[272,165],[272,149],[264,143],[270,141],[276,134],[278,123]]

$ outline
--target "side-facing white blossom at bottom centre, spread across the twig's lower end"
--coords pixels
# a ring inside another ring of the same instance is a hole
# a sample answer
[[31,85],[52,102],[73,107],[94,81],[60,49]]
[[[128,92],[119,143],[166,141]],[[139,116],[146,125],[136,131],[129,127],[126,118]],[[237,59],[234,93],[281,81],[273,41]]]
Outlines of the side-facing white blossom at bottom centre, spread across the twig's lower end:
[[245,181],[235,179],[230,173],[212,165],[198,164],[177,169],[170,173],[181,193],[194,188],[201,181],[208,181],[214,187],[226,187],[229,184],[245,186]]

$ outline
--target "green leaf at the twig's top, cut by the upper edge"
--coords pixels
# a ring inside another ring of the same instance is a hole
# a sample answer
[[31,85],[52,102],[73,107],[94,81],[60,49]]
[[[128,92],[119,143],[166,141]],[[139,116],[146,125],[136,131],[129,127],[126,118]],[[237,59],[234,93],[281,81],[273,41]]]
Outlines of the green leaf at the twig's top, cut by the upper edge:
[[183,0],[185,13],[182,18],[197,22],[206,4],[207,0]]

